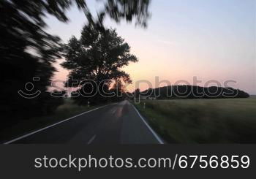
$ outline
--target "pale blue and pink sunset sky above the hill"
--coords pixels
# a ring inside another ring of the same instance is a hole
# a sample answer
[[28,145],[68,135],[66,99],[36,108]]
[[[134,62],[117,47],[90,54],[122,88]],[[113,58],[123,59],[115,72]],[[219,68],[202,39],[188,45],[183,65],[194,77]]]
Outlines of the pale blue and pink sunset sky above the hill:
[[[88,4],[94,12],[100,9],[92,0]],[[139,59],[124,68],[133,80],[128,91],[158,86],[156,77],[172,85],[193,85],[196,77],[200,86],[217,85],[212,80],[218,85],[234,80],[231,87],[256,94],[256,0],[152,0],[149,11],[147,28],[105,20],[105,26],[116,28]],[[72,35],[79,38],[86,23],[83,12],[75,7],[67,16],[67,24],[53,17],[46,19],[47,31],[63,42]],[[60,62],[54,79],[65,80],[67,70]],[[151,86],[136,85],[141,80]]]

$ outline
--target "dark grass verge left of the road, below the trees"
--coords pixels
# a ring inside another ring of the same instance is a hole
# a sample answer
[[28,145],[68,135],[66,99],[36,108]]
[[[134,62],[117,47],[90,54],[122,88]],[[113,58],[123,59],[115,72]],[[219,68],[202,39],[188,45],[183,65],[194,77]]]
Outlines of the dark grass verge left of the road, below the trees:
[[53,115],[45,115],[42,117],[30,118],[28,120],[19,121],[14,126],[0,131],[0,141],[10,140],[20,135],[27,134],[36,129],[42,129],[50,124],[57,123],[66,118],[71,118],[74,115],[93,110],[99,106],[79,106],[74,104],[72,99],[65,99],[64,104],[59,106]]

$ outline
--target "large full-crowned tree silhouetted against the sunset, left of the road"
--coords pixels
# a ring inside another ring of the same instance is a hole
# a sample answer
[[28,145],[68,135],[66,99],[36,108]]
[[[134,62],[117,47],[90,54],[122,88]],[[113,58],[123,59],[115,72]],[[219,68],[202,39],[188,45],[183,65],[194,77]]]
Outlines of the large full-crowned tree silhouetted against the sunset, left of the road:
[[[122,70],[129,62],[137,62],[136,56],[130,53],[130,47],[124,39],[118,37],[115,29],[99,29],[92,24],[83,27],[80,39],[72,37],[67,45],[64,45],[64,57],[66,61],[62,64],[69,69],[69,77],[66,85],[79,87],[83,92],[89,85],[83,85],[94,81],[101,93],[102,88],[108,91],[111,82],[120,81],[131,83],[129,74]],[[77,83],[73,83],[78,80]],[[103,82],[103,83],[102,83]],[[102,85],[102,86],[99,86]],[[82,88],[82,89],[81,89]],[[90,91],[90,90],[89,90]],[[83,96],[84,97],[84,96]],[[77,98],[79,102],[86,102],[85,98]],[[94,98],[94,102],[103,99],[102,96]]]

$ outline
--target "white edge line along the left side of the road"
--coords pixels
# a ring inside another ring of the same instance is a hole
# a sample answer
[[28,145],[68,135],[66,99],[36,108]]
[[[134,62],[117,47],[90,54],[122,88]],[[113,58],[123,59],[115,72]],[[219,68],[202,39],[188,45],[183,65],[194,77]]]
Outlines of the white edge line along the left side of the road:
[[[114,103],[114,104],[116,104],[116,103]],[[112,105],[112,104],[108,104],[108,105],[105,105],[105,106],[102,106],[102,107],[106,107],[106,106],[109,106],[109,105]],[[84,115],[84,114],[86,114],[86,113],[91,113],[91,112],[94,111],[94,110],[99,110],[99,109],[102,108],[102,107],[97,107],[97,108],[95,108],[95,109],[93,109],[93,110],[89,110],[89,111],[86,111],[86,112],[84,112],[84,113],[80,113],[79,115],[75,115],[75,116],[73,116],[73,117],[71,117],[71,118],[64,119],[63,121],[59,121],[58,123],[53,123],[53,124],[50,125],[50,126],[46,126],[46,127],[42,128],[42,129],[38,129],[37,131],[34,131],[34,132],[30,132],[29,134],[25,134],[25,135],[23,135],[23,136],[20,136],[20,137],[18,137],[18,138],[15,138],[14,140],[10,140],[10,141],[8,141],[8,142],[4,142],[3,144],[10,144],[10,143],[15,142],[15,141],[17,141],[17,140],[21,140],[21,139],[23,139],[23,138],[25,138],[25,137],[29,137],[29,136],[32,135],[32,134],[36,134],[37,132],[41,132],[41,131],[43,131],[43,130],[45,130],[45,129],[48,129],[48,128],[53,127],[53,126],[56,126],[56,125],[58,125],[58,124],[60,124],[60,123],[64,123],[64,122],[66,122],[66,121],[69,121],[69,120],[71,120],[72,118],[76,118],[76,117],[78,117],[78,116],[80,116],[80,115]]]

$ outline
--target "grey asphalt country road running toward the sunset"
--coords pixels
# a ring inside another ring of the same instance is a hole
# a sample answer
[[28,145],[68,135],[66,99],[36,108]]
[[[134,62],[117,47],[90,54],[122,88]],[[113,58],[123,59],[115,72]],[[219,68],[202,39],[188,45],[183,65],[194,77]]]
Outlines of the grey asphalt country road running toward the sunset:
[[77,115],[5,144],[162,144],[138,110],[123,101]]

